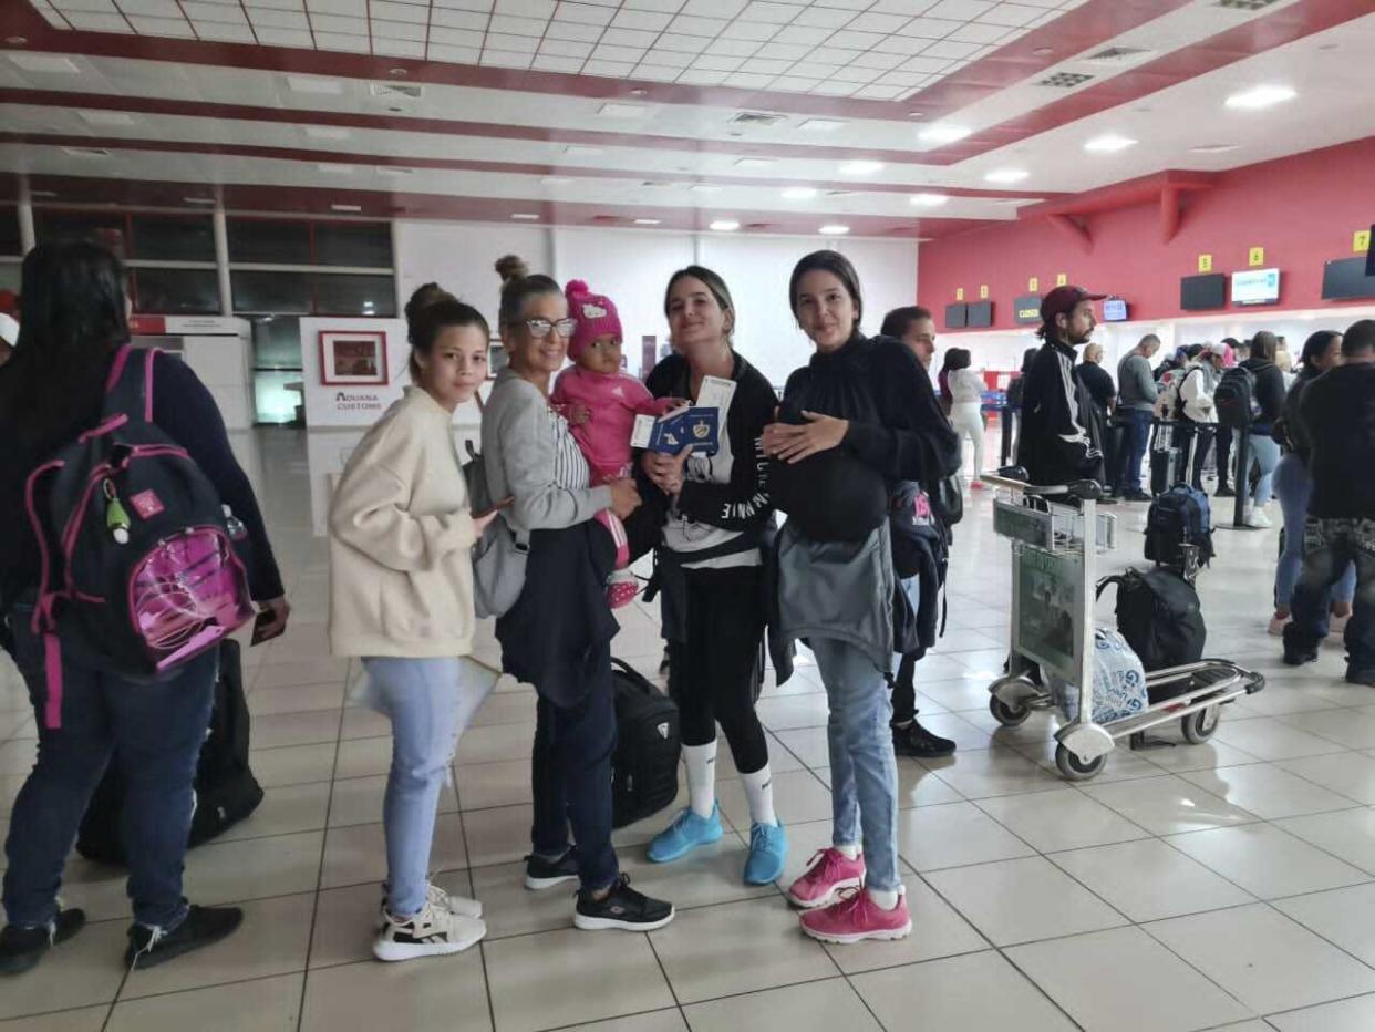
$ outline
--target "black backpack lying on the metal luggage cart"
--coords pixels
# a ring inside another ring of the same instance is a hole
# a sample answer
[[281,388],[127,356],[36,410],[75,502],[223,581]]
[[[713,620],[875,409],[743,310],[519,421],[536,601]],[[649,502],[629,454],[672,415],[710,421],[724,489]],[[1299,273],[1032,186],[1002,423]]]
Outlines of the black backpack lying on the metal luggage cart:
[[1203,658],[1207,626],[1194,585],[1172,570],[1128,570],[1099,583],[1118,588],[1118,630],[1151,670],[1196,663]]

